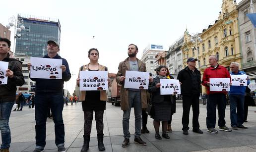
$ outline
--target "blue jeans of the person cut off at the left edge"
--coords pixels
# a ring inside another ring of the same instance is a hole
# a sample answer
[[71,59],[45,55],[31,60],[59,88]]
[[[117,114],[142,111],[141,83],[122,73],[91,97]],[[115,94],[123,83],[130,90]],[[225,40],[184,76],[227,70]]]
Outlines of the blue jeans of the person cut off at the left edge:
[[9,117],[14,101],[0,102],[0,131],[2,137],[1,149],[10,147],[11,137],[9,128]]

